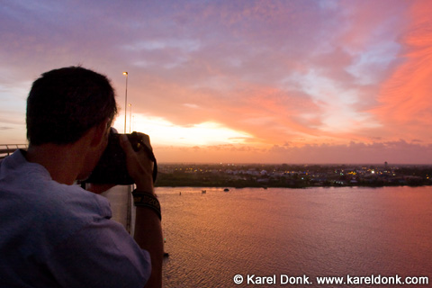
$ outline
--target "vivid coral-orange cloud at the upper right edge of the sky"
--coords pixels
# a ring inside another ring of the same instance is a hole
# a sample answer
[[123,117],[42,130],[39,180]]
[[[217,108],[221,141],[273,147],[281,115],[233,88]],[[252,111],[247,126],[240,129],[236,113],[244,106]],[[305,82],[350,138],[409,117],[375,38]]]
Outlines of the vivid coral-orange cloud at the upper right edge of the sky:
[[[432,142],[432,2],[417,1],[401,38],[401,65],[383,83],[374,112],[393,139]],[[389,136],[390,137],[390,136]]]

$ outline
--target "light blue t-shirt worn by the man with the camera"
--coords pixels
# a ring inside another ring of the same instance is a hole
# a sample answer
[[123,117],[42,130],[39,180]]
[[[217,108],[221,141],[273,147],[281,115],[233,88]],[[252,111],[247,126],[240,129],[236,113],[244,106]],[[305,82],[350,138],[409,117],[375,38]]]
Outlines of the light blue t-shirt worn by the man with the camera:
[[0,162],[0,287],[143,287],[150,258],[109,202],[17,150]]

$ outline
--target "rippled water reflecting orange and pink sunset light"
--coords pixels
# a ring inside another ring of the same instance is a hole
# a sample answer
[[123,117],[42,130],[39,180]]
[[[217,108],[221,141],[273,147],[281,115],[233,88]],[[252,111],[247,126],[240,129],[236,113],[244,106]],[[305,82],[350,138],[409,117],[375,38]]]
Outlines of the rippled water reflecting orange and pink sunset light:
[[238,274],[432,281],[430,187],[204,189],[157,188],[165,287],[247,287]]

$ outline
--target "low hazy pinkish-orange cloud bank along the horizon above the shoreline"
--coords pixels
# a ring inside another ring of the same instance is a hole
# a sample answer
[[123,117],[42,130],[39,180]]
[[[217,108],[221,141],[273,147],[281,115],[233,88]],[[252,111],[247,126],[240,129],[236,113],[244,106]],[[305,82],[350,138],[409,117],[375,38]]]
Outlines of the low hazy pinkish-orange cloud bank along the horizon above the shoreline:
[[159,162],[192,163],[295,163],[295,164],[428,164],[432,145],[404,140],[329,145],[308,144],[302,147],[274,145],[257,148],[248,145],[195,146],[188,148],[158,146]]

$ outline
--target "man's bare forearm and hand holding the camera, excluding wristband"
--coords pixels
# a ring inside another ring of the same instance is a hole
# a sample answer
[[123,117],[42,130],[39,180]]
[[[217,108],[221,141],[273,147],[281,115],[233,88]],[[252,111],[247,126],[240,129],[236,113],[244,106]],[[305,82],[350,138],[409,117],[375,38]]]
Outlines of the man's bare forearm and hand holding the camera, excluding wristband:
[[[144,143],[151,148],[148,136],[139,135],[143,137]],[[141,149],[139,152],[135,152],[125,135],[121,136],[121,147],[126,153],[128,171],[137,184],[137,191],[155,196],[152,178],[153,163],[148,159],[145,151]],[[134,238],[139,247],[146,249],[151,257],[151,275],[145,287],[162,287],[164,243],[162,226],[155,211],[147,207],[137,207]]]

